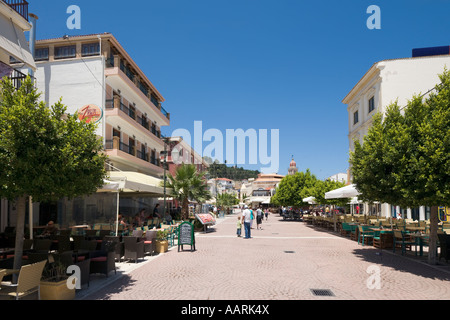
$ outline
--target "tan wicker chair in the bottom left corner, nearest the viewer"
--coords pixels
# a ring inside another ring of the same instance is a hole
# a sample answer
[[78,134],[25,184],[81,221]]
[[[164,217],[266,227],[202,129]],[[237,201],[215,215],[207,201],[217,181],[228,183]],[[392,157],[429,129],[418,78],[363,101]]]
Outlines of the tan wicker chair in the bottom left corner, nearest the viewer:
[[20,298],[37,292],[38,299],[40,300],[41,277],[46,263],[47,261],[41,261],[22,266],[20,268],[17,286],[2,286],[0,295],[9,296],[19,300]]

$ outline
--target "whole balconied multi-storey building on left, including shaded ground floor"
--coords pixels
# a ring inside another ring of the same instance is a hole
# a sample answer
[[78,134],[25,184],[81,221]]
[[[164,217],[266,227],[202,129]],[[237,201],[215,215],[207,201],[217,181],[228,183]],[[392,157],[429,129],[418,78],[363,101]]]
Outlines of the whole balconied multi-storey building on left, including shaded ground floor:
[[[135,186],[153,182],[145,192],[123,194],[120,212],[131,216],[144,208],[151,213],[163,196],[161,127],[170,124],[161,93],[110,33],[38,40],[35,61],[41,99],[52,105],[62,98],[68,113],[77,112],[97,123],[109,159],[109,179]],[[63,205],[39,204],[39,224],[114,220],[117,209],[109,197],[114,195],[98,193]]]

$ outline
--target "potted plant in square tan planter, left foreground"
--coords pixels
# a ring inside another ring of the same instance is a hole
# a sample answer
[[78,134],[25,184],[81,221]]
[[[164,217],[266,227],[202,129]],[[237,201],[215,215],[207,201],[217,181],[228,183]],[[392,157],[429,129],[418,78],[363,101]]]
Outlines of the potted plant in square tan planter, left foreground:
[[40,283],[41,300],[73,300],[75,287],[69,288],[67,267],[49,256],[49,263],[44,268]]

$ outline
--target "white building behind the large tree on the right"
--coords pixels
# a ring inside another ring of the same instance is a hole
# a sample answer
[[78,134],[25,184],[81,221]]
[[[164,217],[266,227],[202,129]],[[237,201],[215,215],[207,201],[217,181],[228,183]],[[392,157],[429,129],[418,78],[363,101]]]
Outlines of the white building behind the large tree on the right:
[[[354,151],[354,140],[363,143],[363,137],[372,125],[375,113],[384,113],[386,107],[395,101],[400,106],[405,106],[413,95],[427,94],[439,83],[438,75],[445,67],[450,67],[449,47],[419,51],[421,56],[389,59],[373,64],[344,98],[342,102],[347,105],[351,151]],[[427,52],[437,52],[438,55],[427,55]],[[430,214],[430,208],[426,207],[399,208],[390,204],[381,204],[380,207],[381,215],[387,217],[401,213],[403,218],[425,220]],[[366,210],[372,211],[367,207]]]

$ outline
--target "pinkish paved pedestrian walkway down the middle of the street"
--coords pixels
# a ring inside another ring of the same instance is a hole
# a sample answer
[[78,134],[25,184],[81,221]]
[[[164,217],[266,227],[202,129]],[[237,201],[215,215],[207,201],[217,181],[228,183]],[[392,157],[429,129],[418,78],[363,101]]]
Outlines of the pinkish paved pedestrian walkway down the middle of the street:
[[[450,266],[358,245],[303,222],[269,216],[252,239],[236,237],[236,215],[196,234],[196,251],[121,263],[92,281],[84,300],[442,300]],[[185,246],[185,249],[189,246]],[[425,260],[426,258],[423,258]],[[313,294],[313,289],[327,290]]]

